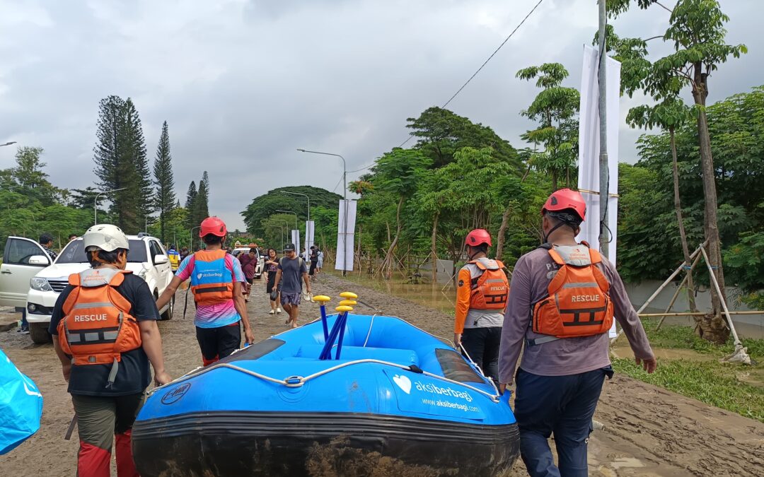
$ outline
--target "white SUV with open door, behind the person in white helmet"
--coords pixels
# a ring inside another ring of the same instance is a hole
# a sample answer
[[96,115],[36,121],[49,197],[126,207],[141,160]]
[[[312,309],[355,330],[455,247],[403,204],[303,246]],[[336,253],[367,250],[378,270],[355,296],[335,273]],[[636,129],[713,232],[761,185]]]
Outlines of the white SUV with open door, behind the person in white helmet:
[[[146,280],[154,298],[158,298],[173,279],[167,252],[157,238],[147,234],[128,235],[128,240],[130,251],[126,268]],[[29,334],[34,343],[50,341],[47,328],[58,295],[66,287],[72,273],[82,272],[90,266],[82,237],[72,240],[53,264],[46,266],[49,263],[47,253],[34,240],[8,237],[0,266],[0,277],[3,277],[0,278],[0,305],[27,308]],[[19,292],[20,282],[24,282],[23,295]],[[163,320],[173,317],[174,305],[175,298],[160,310]]]

